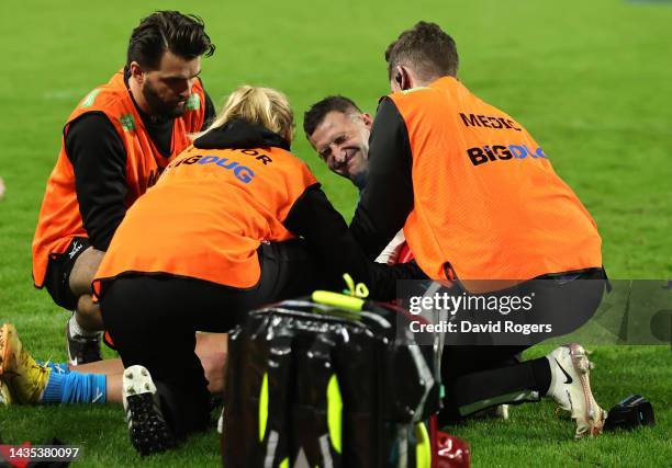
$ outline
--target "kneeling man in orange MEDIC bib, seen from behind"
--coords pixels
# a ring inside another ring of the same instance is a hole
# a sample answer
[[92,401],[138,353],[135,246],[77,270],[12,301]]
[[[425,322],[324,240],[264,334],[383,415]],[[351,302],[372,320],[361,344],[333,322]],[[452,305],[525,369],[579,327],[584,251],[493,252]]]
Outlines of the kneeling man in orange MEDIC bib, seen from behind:
[[533,297],[522,320],[552,324],[553,334],[505,346],[491,344],[495,332],[447,334],[444,416],[546,396],[571,412],[575,437],[598,434],[606,412],[593,398],[581,345],[515,358],[573,331],[600,305],[606,275],[595,222],[525,128],[456,79],[456,45],[438,25],[403,32],[385,59],[392,93],[371,128],[367,186],[350,231],[373,258],[403,227],[421,269],[451,285],[449,294]]

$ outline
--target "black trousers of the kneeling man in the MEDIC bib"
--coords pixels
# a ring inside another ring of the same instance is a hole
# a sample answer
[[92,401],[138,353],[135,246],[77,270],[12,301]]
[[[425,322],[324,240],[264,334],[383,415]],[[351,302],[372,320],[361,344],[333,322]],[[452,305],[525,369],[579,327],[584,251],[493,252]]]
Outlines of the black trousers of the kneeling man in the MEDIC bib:
[[[528,296],[534,294],[533,309],[518,319],[524,323],[551,323],[552,336],[576,330],[597,310],[606,284],[602,269],[575,274],[544,276],[494,294],[494,296]],[[461,294],[461,292],[456,292]],[[475,311],[471,315],[491,316]],[[546,357],[519,362],[519,353],[551,338],[530,333],[518,342],[480,334],[473,342],[449,344],[441,355],[441,380],[446,390],[441,423],[455,422],[462,416],[502,403],[536,401],[550,385],[550,366]],[[467,340],[468,341],[468,340]],[[536,393],[535,393],[536,392]],[[540,395],[539,395],[540,393]]]

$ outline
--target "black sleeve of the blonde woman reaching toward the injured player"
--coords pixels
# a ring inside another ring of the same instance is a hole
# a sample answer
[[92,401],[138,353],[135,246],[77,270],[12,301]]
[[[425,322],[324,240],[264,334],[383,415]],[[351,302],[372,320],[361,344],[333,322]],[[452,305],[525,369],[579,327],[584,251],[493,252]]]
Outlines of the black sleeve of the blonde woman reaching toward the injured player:
[[367,285],[372,299],[391,300],[396,297],[397,279],[426,277],[415,263],[388,266],[367,260],[345,219],[332,206],[320,184],[306,189],[283,225],[303,237],[321,258],[332,288],[341,288],[341,275],[349,273],[357,283]]

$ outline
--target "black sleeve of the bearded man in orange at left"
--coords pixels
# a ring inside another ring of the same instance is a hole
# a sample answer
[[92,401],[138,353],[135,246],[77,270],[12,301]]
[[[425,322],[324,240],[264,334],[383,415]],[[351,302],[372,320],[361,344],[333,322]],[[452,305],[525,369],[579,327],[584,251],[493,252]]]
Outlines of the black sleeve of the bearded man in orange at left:
[[126,150],[104,114],[85,114],[65,140],[75,171],[79,213],[91,244],[108,250],[126,214]]

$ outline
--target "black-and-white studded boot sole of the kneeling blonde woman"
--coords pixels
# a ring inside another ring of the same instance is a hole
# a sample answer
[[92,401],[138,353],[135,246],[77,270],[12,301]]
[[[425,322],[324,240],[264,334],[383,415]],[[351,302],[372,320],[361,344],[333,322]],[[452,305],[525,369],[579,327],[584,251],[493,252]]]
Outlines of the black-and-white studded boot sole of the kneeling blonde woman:
[[131,443],[142,456],[166,452],[176,440],[164,419],[156,386],[143,366],[124,370],[123,402]]

